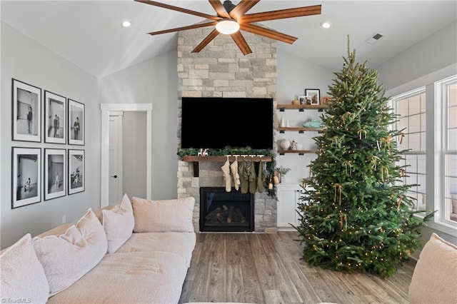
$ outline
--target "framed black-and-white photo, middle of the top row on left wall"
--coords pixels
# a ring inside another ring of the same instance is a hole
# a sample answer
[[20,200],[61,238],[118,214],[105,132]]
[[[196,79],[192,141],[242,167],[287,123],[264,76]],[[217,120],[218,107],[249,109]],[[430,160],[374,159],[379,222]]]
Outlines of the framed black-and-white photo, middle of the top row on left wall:
[[66,143],[66,98],[44,91],[44,142]]

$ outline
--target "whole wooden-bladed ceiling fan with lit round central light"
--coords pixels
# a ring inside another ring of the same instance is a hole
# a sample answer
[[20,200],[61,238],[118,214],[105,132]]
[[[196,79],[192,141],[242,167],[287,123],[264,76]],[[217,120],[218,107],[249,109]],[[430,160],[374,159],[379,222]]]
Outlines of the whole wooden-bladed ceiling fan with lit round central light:
[[199,11],[191,11],[190,9],[171,6],[169,4],[163,4],[156,1],[135,1],[142,2],[144,4],[150,4],[153,6],[163,7],[164,9],[171,9],[173,11],[181,11],[182,13],[200,16],[205,19],[212,20],[206,23],[193,24],[190,26],[183,26],[175,29],[166,29],[164,31],[153,31],[149,33],[150,35],[159,35],[172,33],[175,31],[185,31],[187,29],[198,29],[206,26],[215,26],[216,28],[211,31],[211,33],[206,36],[206,38],[201,41],[198,46],[196,46],[192,53],[199,53],[199,51],[204,49],[204,47],[208,45],[214,38],[216,38],[217,35],[229,34],[243,55],[251,54],[251,48],[248,46],[246,40],[239,31],[240,29],[253,34],[276,39],[278,41],[283,41],[288,44],[293,44],[293,42],[297,39],[296,37],[289,36],[278,31],[273,31],[271,29],[266,29],[262,26],[253,24],[253,22],[321,14],[321,5],[303,6],[294,9],[280,9],[277,11],[264,11],[261,13],[246,14],[246,12],[254,5],[256,5],[260,0],[241,0],[236,5],[232,4],[229,0],[224,1],[224,4],[221,3],[221,0],[208,0],[211,6],[213,6],[213,9],[216,11],[216,16],[201,13]]

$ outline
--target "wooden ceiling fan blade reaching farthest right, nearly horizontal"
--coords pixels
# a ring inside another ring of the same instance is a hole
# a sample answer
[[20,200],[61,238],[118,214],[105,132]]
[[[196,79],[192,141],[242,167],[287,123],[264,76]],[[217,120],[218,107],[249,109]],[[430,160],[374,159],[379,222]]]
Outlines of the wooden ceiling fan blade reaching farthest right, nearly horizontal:
[[303,6],[295,9],[280,9],[278,11],[264,11],[263,13],[247,14],[241,17],[240,24],[319,14],[321,14],[321,5]]

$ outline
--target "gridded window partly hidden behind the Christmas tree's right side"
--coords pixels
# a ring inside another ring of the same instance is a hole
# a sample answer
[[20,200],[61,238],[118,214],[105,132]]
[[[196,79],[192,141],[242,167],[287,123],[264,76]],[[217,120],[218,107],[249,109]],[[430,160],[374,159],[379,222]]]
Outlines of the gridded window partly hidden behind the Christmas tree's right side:
[[408,196],[416,198],[413,208],[426,210],[426,88],[419,88],[392,98],[398,114],[395,128],[404,134],[398,150],[408,150],[396,163],[406,166],[403,183],[417,185],[409,188]]

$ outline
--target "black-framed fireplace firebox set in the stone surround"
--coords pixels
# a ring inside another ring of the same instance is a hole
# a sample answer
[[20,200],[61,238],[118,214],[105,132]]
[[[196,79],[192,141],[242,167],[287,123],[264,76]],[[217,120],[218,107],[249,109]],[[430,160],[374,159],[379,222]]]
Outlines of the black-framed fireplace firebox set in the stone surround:
[[254,230],[254,195],[234,188],[200,188],[201,232],[252,232]]

